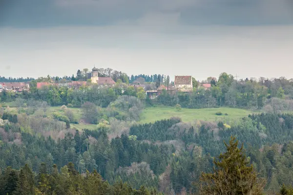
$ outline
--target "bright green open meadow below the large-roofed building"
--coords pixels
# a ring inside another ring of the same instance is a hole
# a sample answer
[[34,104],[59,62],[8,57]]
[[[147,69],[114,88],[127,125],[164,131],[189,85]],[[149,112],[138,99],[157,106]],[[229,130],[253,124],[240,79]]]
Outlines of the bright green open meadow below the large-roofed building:
[[[222,116],[215,115],[216,112],[222,112]],[[224,115],[225,113],[228,116]],[[218,118],[238,119],[240,117],[246,117],[251,114],[252,111],[239,108],[202,108],[202,109],[188,109],[182,108],[181,111],[177,111],[173,107],[149,107],[142,113],[142,119],[140,123],[155,122],[156,120],[162,120],[170,117],[180,117],[182,121],[189,122],[194,120],[206,120],[214,121]]]

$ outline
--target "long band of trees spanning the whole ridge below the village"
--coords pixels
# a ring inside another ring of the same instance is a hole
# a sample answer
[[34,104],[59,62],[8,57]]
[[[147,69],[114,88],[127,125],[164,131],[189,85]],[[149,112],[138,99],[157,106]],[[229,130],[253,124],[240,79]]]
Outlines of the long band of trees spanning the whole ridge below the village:
[[[88,71],[88,70],[87,70]],[[111,71],[104,70],[105,74],[112,75]],[[86,71],[85,71],[86,72]],[[103,71],[102,71],[103,73]],[[102,74],[101,73],[101,74]],[[85,73],[84,73],[85,74]],[[130,82],[142,84],[148,76],[130,78]],[[113,87],[85,86],[76,89],[67,87],[44,87],[37,89],[36,84],[31,82],[29,92],[15,94],[9,91],[0,93],[0,101],[13,101],[15,98],[34,98],[48,102],[49,105],[59,106],[72,104],[74,107],[81,107],[84,102],[92,102],[101,107],[107,107],[110,102],[122,95],[135,96],[146,105],[167,105],[175,106],[180,104],[183,108],[213,108],[213,107],[235,107],[253,108],[266,110],[293,110],[293,80],[286,78],[259,78],[235,80],[233,76],[222,73],[217,81],[215,78],[208,78],[206,81],[198,83],[193,79],[194,88],[189,93],[163,90],[155,99],[149,99],[145,90],[154,90],[160,84],[170,85],[170,78],[163,75],[149,76],[152,84],[143,87],[127,85],[124,79],[118,78]],[[83,76],[81,76],[83,77]],[[116,76],[115,76],[116,77]],[[145,77],[145,78],[144,78]],[[50,78],[50,77],[48,77]],[[134,79],[134,80],[133,80]],[[132,81],[133,80],[133,81]],[[205,89],[203,83],[210,83],[211,87]],[[272,101],[275,99],[276,101]],[[276,103],[277,102],[277,103]]]

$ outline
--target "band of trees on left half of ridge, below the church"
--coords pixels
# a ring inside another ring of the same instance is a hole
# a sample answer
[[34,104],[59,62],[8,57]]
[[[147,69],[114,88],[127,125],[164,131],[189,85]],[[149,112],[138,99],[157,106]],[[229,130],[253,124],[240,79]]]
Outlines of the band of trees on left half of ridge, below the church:
[[114,87],[81,86],[78,89],[56,86],[48,86],[42,89],[31,87],[29,92],[23,91],[22,93],[4,90],[0,93],[0,101],[11,102],[15,101],[16,98],[23,98],[46,101],[51,106],[72,104],[74,107],[81,107],[85,102],[92,102],[97,106],[107,107],[122,95],[134,96],[141,100],[146,97],[142,88],[117,83]]

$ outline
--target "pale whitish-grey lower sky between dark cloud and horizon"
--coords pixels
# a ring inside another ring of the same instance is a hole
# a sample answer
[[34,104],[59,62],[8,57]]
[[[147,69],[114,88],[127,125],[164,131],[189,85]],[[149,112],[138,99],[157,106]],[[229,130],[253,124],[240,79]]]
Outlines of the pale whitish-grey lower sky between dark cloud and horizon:
[[0,64],[11,67],[1,76],[72,75],[94,64],[130,75],[155,71],[197,79],[223,71],[291,78],[293,71],[293,26],[5,28],[0,35]]

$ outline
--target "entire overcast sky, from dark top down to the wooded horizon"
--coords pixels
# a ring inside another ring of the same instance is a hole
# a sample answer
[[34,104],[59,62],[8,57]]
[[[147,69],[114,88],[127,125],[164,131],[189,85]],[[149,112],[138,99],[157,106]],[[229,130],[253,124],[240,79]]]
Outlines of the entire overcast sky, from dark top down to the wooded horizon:
[[0,0],[0,76],[293,78],[293,0]]

